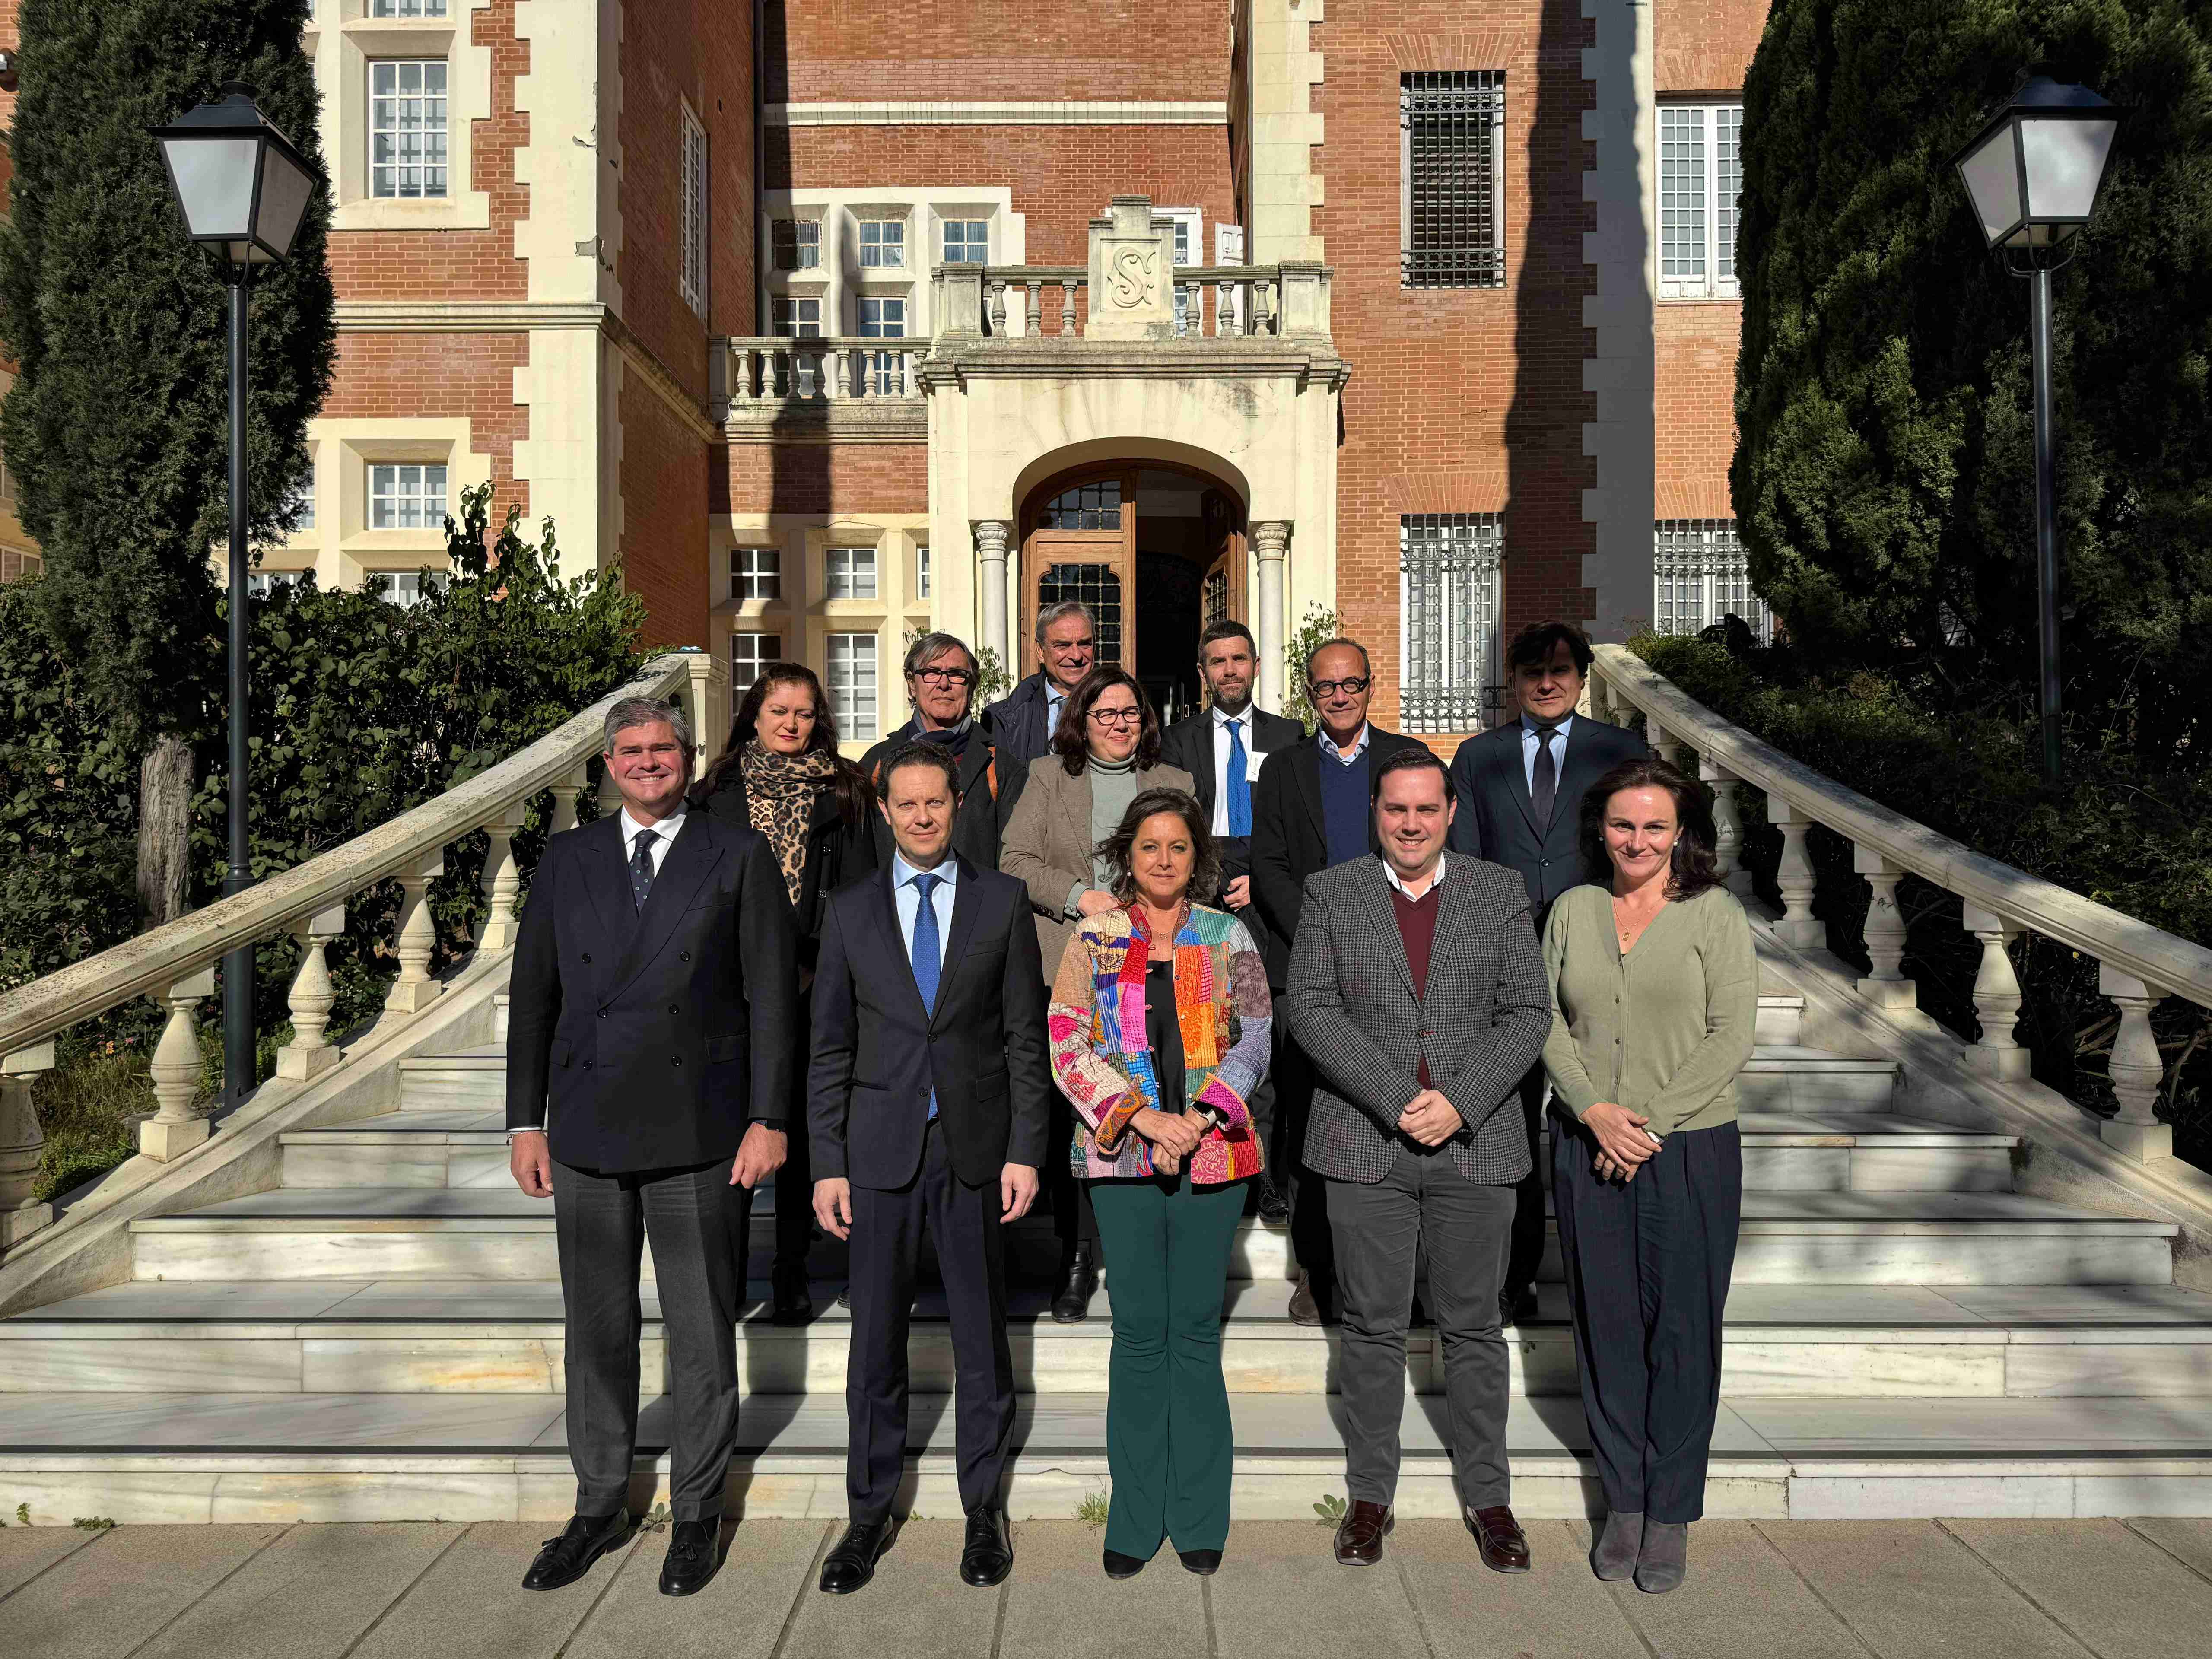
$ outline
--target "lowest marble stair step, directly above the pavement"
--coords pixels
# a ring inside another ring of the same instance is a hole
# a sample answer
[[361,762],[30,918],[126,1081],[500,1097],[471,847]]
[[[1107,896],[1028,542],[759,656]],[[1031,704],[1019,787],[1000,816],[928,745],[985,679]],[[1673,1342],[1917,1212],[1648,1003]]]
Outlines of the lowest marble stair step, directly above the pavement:
[[[1340,1402],[1237,1396],[1232,1513],[1312,1520],[1343,1493]],[[1400,1515],[1455,1515],[1442,1400],[1405,1411]],[[666,1500],[666,1405],[639,1420],[630,1504]],[[909,1416],[916,1515],[958,1515],[945,1394]],[[1006,1502],[1073,1515],[1106,1489],[1106,1396],[1022,1396]],[[1513,1509],[1582,1517],[1601,1502],[1575,1400],[1511,1402]],[[9,1394],[0,1489],[38,1524],[538,1520],[575,1502],[562,1402],[416,1394]],[[732,1513],[843,1517],[845,1405],[754,1396],[739,1416]],[[2212,1400],[1752,1400],[1725,1396],[1710,1515],[2205,1515]],[[1314,1531],[1314,1559],[1327,1562]]]

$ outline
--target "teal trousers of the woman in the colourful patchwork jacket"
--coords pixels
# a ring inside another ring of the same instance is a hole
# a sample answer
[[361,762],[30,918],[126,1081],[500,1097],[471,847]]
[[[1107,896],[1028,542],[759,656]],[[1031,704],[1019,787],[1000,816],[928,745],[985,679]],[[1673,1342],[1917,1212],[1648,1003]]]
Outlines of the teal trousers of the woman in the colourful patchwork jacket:
[[1245,1183],[1186,1177],[1093,1181],[1106,1248],[1106,1548],[1152,1559],[1159,1542],[1217,1551],[1230,1537],[1237,1433],[1221,1378],[1221,1301]]

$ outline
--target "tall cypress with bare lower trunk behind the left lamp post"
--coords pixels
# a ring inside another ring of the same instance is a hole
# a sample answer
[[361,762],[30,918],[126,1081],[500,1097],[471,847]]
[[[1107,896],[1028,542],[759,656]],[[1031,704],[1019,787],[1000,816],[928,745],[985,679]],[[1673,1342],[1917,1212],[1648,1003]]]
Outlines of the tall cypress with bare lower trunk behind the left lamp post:
[[[223,712],[210,551],[228,538],[223,272],[186,241],[148,137],[223,82],[321,166],[307,0],[24,0],[0,228],[0,338],[20,378],[0,442],[44,551],[42,622],[139,757],[139,902],[186,902],[192,743]],[[285,533],[336,316],[316,192],[248,323],[252,535]]]

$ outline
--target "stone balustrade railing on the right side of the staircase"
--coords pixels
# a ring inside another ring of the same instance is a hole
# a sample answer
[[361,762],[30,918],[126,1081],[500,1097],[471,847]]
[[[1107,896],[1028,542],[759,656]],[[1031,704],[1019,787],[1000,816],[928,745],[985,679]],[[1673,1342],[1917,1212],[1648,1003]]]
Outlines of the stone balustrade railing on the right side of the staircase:
[[1597,646],[1590,706],[1599,719],[1641,712],[1652,750],[1670,763],[1679,765],[1683,750],[1697,754],[1699,776],[1714,796],[1721,867],[1736,891],[1747,891],[1752,880],[1739,860],[1736,790],[1747,783],[1765,792],[1767,823],[1783,836],[1776,872],[1783,916],[1774,936],[1785,945],[1812,947],[1827,933],[1812,909],[1818,878],[1805,834],[1818,823],[1851,843],[1854,872],[1871,889],[1865,925],[1871,969],[1858,980],[1858,993],[1891,1015],[1911,1018],[1918,1011],[1918,989],[1900,971],[1905,914],[1898,909],[1898,880],[1911,874],[1955,894],[1966,931],[1982,945],[1973,982],[1982,1035],[1962,1055],[1971,1068],[1991,1077],[2028,1075],[2028,1051],[2013,1037],[2022,993],[2006,947],[2015,938],[2042,933],[2095,960],[2099,987],[2119,1011],[2110,1057],[2119,1113],[2099,1119],[2097,1135],[2143,1164],[2172,1157],[2172,1128],[2157,1117],[2166,1062],[2150,1031],[2150,1009],[2168,995],[2212,1006],[2212,951],[1986,858],[1847,790],[1692,701],[1626,646]]

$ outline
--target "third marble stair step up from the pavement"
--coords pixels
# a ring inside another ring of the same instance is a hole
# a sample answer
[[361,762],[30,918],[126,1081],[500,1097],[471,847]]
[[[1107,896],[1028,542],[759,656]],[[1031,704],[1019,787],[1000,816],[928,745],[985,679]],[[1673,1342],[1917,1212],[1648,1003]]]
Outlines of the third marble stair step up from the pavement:
[[[754,1217],[754,1250],[772,1221]],[[2170,1221],[2075,1210],[2015,1192],[1745,1192],[1741,1285],[2161,1285]],[[507,1188],[279,1188],[131,1223],[133,1279],[555,1279],[553,1208]],[[1009,1272],[1057,1263],[1048,1217],[1009,1228]],[[816,1274],[843,1248],[816,1243]],[[1230,1279],[1287,1279],[1290,1239],[1248,1221]],[[1113,1263],[1106,1265],[1108,1274]],[[646,1259],[650,1274],[650,1252]],[[1546,1245],[1544,1279],[1557,1279]]]

